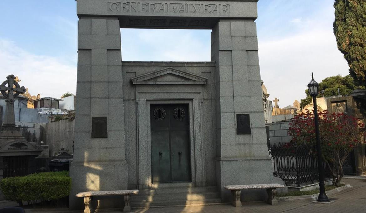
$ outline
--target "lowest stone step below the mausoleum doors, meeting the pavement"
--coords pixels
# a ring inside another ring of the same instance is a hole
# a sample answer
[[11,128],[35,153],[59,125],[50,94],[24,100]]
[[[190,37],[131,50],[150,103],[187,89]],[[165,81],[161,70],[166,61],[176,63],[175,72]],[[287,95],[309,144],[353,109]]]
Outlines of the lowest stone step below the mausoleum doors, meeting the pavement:
[[148,206],[173,206],[173,205],[210,205],[220,204],[221,199],[211,198],[203,200],[165,200],[165,201],[139,201],[131,202],[131,206],[136,207],[148,207]]

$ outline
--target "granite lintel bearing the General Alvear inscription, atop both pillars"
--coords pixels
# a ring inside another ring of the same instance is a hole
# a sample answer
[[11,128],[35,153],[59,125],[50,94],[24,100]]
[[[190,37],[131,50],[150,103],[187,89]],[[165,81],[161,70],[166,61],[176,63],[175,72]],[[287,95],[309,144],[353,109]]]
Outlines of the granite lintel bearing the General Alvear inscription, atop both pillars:
[[257,0],[78,0],[77,15],[118,17],[122,28],[212,29],[219,18],[256,19]]

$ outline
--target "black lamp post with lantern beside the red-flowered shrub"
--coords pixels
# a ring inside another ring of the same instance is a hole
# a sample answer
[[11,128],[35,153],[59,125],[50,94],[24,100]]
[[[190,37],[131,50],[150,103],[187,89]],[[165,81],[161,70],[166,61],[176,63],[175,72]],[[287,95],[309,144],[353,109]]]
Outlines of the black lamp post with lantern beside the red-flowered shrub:
[[317,155],[318,155],[318,173],[319,173],[319,197],[318,202],[330,202],[325,194],[325,183],[324,183],[324,168],[323,159],[321,156],[321,145],[320,145],[320,134],[319,134],[319,119],[317,109],[317,95],[319,93],[319,84],[314,80],[314,75],[311,73],[311,81],[307,85],[310,95],[314,101],[314,118],[315,118],[315,137],[317,142]]

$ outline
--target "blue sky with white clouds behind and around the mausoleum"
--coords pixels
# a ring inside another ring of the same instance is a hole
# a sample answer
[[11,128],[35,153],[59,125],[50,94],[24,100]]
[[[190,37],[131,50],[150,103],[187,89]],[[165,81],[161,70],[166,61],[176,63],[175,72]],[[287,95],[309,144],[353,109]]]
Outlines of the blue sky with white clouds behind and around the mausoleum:
[[[347,75],[333,35],[334,0],[259,0],[261,77],[280,107],[310,81]],[[0,1],[0,78],[12,73],[32,95],[76,92],[74,0]],[[123,61],[209,61],[211,30],[122,29]],[[179,42],[176,42],[179,40]],[[191,45],[187,45],[187,44]],[[171,45],[168,45],[171,44]],[[0,79],[1,81],[1,79]]]

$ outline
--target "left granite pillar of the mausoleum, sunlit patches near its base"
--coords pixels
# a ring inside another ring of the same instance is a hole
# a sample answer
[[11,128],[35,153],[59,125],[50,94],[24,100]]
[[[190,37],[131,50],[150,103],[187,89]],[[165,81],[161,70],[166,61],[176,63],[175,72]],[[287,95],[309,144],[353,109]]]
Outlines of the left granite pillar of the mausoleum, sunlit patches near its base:
[[[71,209],[83,208],[79,192],[127,189],[120,38],[117,18],[79,16]],[[107,138],[91,138],[92,117],[107,117]]]

